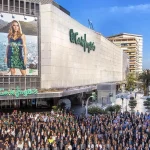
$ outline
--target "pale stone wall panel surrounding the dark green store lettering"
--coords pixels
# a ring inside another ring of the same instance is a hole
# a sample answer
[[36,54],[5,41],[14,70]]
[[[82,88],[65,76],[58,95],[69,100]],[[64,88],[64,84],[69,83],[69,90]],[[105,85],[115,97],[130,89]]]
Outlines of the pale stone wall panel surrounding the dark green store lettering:
[[[46,71],[45,68],[41,70],[42,88],[121,81],[122,52],[120,48],[101,34],[79,24],[55,6],[49,5],[51,4],[41,5],[41,16],[47,15],[49,19],[48,21],[43,21],[44,17],[41,19],[41,68],[47,66],[47,70],[50,70]],[[86,34],[87,42],[94,42],[95,51],[88,53],[86,49],[84,52],[81,45],[71,43],[70,29],[78,32],[77,37],[83,37]],[[45,76],[48,72],[49,75]]]

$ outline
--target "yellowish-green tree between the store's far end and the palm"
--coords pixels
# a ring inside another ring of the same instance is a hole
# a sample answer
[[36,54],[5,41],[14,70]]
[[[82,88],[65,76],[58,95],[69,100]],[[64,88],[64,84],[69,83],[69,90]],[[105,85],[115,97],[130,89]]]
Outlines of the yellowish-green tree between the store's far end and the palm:
[[130,72],[127,75],[127,85],[126,85],[126,90],[130,91],[131,89],[135,89],[135,81],[137,81],[137,76],[134,72]]

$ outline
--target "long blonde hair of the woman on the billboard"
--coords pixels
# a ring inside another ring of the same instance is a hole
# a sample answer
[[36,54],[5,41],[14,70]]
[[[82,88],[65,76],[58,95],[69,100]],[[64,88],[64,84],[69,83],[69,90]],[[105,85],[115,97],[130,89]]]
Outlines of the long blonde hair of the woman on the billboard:
[[9,28],[8,38],[13,38],[14,37],[14,29],[13,29],[13,24],[14,23],[18,23],[18,26],[19,26],[19,30],[17,31],[17,38],[22,36],[22,29],[21,29],[21,25],[20,25],[19,21],[13,20],[11,22],[11,25],[10,25],[10,28]]

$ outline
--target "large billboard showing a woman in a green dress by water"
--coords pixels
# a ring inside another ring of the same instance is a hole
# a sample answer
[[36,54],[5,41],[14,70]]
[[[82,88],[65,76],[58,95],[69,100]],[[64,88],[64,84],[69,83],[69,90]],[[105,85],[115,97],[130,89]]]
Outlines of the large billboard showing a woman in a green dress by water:
[[37,25],[35,17],[0,16],[0,75],[38,75]]

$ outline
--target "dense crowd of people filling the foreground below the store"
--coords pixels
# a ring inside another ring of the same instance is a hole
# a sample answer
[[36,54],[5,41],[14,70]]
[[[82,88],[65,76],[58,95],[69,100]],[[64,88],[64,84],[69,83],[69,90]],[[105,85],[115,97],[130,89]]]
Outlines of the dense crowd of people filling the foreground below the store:
[[0,150],[150,150],[150,114],[3,113]]

